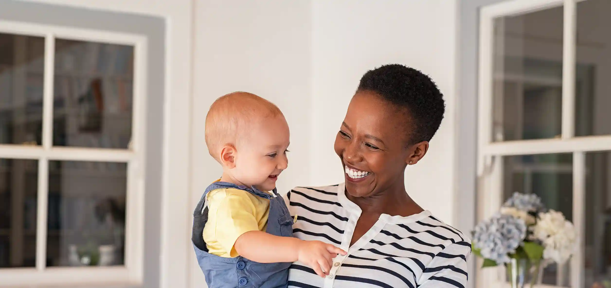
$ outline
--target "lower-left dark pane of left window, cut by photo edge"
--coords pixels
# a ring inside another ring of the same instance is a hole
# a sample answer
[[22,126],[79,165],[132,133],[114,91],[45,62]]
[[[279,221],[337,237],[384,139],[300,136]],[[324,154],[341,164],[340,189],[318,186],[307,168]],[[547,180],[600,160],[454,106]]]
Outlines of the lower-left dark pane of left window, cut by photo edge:
[[0,159],[0,267],[36,264],[38,160]]

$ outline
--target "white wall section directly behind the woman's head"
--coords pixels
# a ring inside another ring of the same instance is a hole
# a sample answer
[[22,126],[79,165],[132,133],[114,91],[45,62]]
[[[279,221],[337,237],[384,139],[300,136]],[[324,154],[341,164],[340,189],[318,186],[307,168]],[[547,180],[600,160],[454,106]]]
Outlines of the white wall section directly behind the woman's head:
[[406,171],[406,189],[452,225],[455,7],[448,0],[313,1],[310,185],[343,181],[333,142],[362,74],[401,63],[429,74],[447,101],[430,150]]

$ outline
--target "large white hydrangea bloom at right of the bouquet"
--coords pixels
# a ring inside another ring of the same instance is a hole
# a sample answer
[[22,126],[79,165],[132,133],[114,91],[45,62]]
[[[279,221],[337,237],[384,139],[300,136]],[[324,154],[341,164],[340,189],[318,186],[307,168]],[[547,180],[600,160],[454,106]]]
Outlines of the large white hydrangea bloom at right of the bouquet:
[[566,220],[562,212],[550,210],[540,213],[536,225],[530,230],[535,239],[543,242],[544,259],[562,264],[573,254],[577,239],[575,226]]

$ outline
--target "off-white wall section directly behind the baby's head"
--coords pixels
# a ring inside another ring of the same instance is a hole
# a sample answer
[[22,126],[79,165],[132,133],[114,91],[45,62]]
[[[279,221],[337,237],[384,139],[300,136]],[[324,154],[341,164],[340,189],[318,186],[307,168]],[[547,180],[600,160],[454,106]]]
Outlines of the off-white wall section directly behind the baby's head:
[[[195,206],[222,170],[208,154],[204,123],[213,101],[233,91],[269,99],[291,129],[289,168],[277,189],[310,182],[309,1],[197,1],[195,7],[192,193]],[[205,285],[194,257],[191,286]]]

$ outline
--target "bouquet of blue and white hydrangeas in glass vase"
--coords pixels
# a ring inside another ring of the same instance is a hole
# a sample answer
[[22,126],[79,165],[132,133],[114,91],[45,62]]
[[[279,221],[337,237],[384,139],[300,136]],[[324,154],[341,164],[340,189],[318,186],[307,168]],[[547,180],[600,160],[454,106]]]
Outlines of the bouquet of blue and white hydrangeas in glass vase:
[[576,242],[573,223],[562,212],[546,211],[541,198],[518,192],[472,234],[472,250],[484,259],[482,267],[505,265],[515,288],[524,287],[527,278],[533,287],[543,265],[568,261]]

